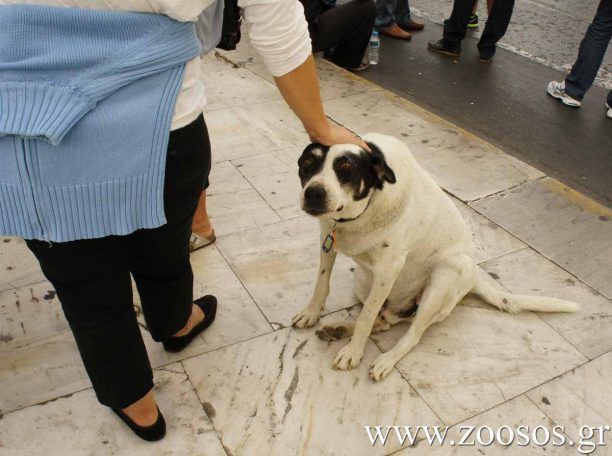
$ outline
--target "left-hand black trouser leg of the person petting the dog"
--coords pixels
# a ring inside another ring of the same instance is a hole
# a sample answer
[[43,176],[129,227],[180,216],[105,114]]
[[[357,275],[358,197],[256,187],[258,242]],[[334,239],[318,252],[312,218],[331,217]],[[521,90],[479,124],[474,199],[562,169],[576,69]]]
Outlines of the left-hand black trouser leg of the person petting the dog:
[[118,238],[26,241],[53,284],[98,400],[126,408],[153,388]]

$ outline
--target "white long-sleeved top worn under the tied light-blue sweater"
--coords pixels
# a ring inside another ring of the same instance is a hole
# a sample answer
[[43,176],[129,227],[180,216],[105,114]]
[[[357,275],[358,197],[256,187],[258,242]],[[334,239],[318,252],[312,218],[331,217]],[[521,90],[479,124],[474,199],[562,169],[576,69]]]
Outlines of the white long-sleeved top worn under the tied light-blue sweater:
[[[165,14],[177,21],[195,21],[214,0],[0,0],[0,5],[29,3],[47,6],[91,8]],[[219,0],[223,1],[223,0]],[[300,66],[312,52],[304,9],[298,0],[238,0],[252,24],[251,44],[274,76]],[[183,85],[174,107],[172,130],[193,122],[206,105],[200,58],[185,66]]]

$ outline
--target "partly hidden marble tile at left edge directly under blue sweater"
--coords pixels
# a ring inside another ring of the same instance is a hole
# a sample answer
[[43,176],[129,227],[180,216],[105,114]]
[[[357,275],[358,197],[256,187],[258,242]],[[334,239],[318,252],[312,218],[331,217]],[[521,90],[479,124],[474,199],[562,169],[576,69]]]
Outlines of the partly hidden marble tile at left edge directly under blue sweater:
[[45,280],[23,239],[0,236],[0,291]]

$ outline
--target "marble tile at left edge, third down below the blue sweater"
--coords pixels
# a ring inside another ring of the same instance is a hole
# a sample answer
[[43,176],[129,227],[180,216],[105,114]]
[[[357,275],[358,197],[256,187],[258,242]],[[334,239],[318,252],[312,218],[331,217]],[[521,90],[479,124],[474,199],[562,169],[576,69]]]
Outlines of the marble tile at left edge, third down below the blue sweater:
[[0,415],[90,385],[68,330],[0,351]]

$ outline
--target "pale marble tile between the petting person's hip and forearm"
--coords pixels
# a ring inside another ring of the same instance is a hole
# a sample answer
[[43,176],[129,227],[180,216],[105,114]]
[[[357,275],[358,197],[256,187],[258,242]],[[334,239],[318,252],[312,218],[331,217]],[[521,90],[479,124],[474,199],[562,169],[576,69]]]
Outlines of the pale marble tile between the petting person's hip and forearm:
[[248,118],[233,109],[205,113],[210,135],[213,167],[215,163],[257,155],[279,147]]

